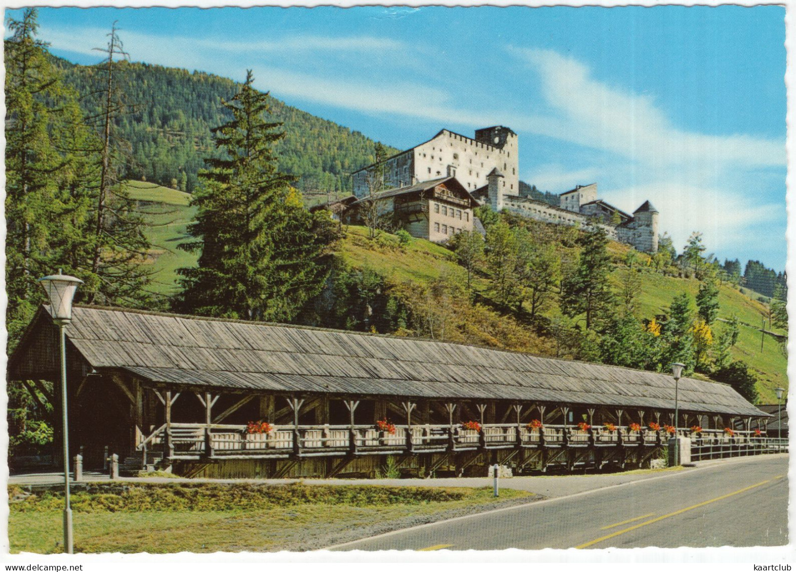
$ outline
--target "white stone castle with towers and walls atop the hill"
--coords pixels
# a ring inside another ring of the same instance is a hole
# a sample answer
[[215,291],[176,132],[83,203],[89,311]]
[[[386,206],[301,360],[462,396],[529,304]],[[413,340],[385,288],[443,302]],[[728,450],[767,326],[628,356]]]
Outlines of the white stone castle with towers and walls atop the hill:
[[[552,224],[587,226],[598,219],[611,239],[638,251],[657,252],[658,212],[646,200],[632,215],[597,198],[597,184],[578,185],[561,193],[559,205],[534,200],[520,191],[517,134],[509,127],[475,131],[475,138],[443,129],[427,142],[384,162],[384,189],[400,189],[424,181],[455,177],[481,204]],[[370,193],[369,165],[352,173],[357,198]],[[392,193],[388,193],[391,194]]]

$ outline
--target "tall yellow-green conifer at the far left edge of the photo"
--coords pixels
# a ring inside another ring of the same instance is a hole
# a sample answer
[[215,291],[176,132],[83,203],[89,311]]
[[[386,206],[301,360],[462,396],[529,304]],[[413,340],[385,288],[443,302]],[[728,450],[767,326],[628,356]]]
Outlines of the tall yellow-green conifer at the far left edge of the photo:
[[37,38],[37,10],[10,19],[6,51],[6,322],[12,340],[42,300],[59,237],[57,173],[63,160],[52,132],[61,86]]

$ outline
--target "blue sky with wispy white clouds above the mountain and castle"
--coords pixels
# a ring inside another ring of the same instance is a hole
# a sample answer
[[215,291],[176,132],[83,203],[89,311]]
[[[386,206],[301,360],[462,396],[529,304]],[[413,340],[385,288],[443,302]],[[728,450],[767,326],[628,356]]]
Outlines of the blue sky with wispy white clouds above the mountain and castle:
[[[14,16],[14,10],[6,15]],[[786,261],[782,6],[41,8],[53,53],[95,63],[114,20],[132,60],[242,80],[401,149],[501,124],[522,180],[646,199],[678,251]]]

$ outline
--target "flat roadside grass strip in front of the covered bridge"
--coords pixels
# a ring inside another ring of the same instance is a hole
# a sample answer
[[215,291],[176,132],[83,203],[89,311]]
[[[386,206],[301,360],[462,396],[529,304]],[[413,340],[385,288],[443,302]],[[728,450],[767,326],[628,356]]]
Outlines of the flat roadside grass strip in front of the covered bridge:
[[[10,503],[11,552],[60,552],[63,497],[19,497]],[[533,498],[505,489],[500,502]],[[494,501],[488,487],[136,483],[75,492],[72,511],[80,552],[304,551]]]

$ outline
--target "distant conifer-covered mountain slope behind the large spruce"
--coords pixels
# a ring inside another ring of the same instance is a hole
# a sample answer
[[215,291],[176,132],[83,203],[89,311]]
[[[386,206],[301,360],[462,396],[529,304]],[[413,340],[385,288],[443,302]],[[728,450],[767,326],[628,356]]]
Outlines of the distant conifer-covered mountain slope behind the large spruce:
[[[100,102],[91,94],[100,91],[104,74],[94,66],[53,60],[64,82],[80,93],[84,111],[96,113]],[[123,177],[192,193],[203,159],[216,153],[210,129],[229,119],[220,100],[232,99],[240,84],[204,72],[125,61],[118,71],[114,77],[127,110],[117,126],[130,146]],[[275,147],[279,169],[299,177],[297,186],[306,196],[345,192],[349,173],[373,161],[374,142],[358,131],[279,99],[271,98],[271,113],[275,122],[284,123],[286,134]]]

